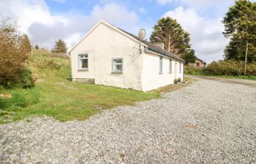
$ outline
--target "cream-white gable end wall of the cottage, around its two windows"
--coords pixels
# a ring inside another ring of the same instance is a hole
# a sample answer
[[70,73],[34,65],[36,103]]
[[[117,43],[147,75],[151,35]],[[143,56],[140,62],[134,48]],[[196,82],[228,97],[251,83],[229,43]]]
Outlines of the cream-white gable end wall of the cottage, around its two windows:
[[[143,55],[138,43],[113,28],[99,23],[71,52],[72,78],[92,78],[97,85],[108,85],[142,90]],[[89,71],[78,71],[78,55],[89,54]],[[124,58],[123,74],[113,74],[112,58]]]

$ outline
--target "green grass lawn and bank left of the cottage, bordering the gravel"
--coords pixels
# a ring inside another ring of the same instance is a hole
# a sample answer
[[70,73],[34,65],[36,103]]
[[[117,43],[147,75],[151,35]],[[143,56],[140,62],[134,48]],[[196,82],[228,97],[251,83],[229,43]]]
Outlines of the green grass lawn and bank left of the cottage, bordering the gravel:
[[[45,60],[54,60],[53,65],[60,63],[61,68],[45,66]],[[12,94],[12,98],[0,98],[0,123],[44,115],[60,121],[85,120],[103,109],[160,97],[159,93],[71,82],[69,59],[37,56],[31,58],[29,67],[38,79],[35,87],[7,90],[0,86],[0,93]]]

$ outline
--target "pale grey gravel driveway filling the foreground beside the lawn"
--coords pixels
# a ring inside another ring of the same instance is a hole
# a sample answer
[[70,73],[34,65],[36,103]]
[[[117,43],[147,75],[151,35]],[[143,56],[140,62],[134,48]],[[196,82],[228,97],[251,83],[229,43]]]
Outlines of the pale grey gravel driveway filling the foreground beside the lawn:
[[0,163],[256,163],[256,87],[199,79],[83,122],[0,125]]

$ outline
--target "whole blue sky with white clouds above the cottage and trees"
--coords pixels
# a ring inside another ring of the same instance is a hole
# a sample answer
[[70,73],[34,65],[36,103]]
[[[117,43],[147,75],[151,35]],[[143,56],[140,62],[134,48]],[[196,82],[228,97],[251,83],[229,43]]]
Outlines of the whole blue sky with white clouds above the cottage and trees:
[[32,44],[52,49],[57,39],[70,48],[99,20],[148,39],[161,17],[173,17],[191,36],[198,58],[220,60],[229,42],[222,18],[234,0],[0,0],[0,19],[10,17]]

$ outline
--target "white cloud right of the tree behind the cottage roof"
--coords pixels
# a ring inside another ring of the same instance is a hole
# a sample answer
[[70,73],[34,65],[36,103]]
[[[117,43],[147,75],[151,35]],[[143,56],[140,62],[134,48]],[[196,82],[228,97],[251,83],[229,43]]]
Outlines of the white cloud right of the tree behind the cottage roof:
[[202,17],[194,9],[184,9],[184,7],[177,7],[163,15],[163,17],[167,16],[178,20],[184,30],[191,34],[192,48],[198,58],[207,62],[222,59],[223,50],[228,42],[228,39],[222,35],[224,31],[222,18]]

